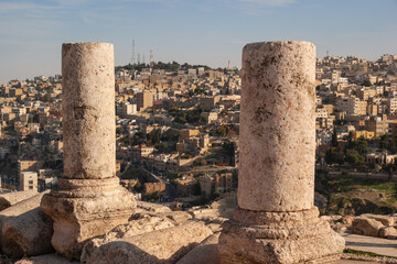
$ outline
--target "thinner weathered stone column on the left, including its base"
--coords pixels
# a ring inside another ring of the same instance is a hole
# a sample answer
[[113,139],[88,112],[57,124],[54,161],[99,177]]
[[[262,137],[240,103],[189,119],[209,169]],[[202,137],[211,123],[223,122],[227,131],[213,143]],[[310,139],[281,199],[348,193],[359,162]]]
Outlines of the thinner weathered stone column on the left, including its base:
[[79,258],[84,242],[127,222],[132,194],[116,177],[114,47],[62,45],[64,175],[41,207],[54,220],[52,244]]

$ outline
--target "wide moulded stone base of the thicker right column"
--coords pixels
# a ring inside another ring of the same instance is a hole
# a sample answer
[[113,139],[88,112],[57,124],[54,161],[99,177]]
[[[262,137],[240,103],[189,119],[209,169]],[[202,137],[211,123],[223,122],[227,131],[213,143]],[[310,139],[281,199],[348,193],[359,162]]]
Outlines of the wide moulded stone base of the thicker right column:
[[261,212],[237,208],[223,223],[222,263],[335,263],[345,241],[319,218],[316,207],[297,212]]

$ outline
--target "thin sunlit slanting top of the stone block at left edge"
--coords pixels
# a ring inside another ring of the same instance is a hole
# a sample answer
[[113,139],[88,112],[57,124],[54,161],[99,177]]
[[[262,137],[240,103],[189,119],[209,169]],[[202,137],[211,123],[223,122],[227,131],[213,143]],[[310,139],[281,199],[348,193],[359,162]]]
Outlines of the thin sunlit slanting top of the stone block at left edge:
[[[30,210],[33,210],[40,206],[40,201],[43,198],[45,194],[49,194],[50,190],[40,193],[29,199],[22,200],[12,207],[9,207],[0,212],[0,230],[2,229],[3,223],[11,219],[12,217],[20,216],[24,212],[28,212]],[[0,246],[1,246],[1,232],[0,232]]]

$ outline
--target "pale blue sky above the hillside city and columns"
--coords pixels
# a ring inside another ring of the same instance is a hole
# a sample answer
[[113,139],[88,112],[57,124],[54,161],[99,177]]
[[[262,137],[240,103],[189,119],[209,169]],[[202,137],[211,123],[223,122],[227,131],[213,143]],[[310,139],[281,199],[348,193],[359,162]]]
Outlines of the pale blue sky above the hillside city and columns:
[[240,65],[246,43],[311,41],[318,57],[397,54],[397,0],[0,0],[0,84],[61,72],[64,42],[109,42],[116,65]]

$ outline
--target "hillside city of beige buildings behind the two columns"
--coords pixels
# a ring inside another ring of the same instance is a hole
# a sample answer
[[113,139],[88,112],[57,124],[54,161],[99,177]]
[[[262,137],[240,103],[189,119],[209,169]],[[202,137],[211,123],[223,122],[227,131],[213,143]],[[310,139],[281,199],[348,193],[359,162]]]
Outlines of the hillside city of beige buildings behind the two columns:
[[[115,70],[121,185],[138,200],[175,208],[205,205],[236,189],[240,69],[173,62]],[[316,176],[391,180],[397,170],[397,55],[376,62],[318,58],[315,89]],[[0,86],[2,191],[56,186],[63,172],[61,102],[61,75]],[[330,183],[323,182],[315,185],[320,201],[330,197]],[[383,200],[393,196],[395,205],[394,193],[386,196]]]

